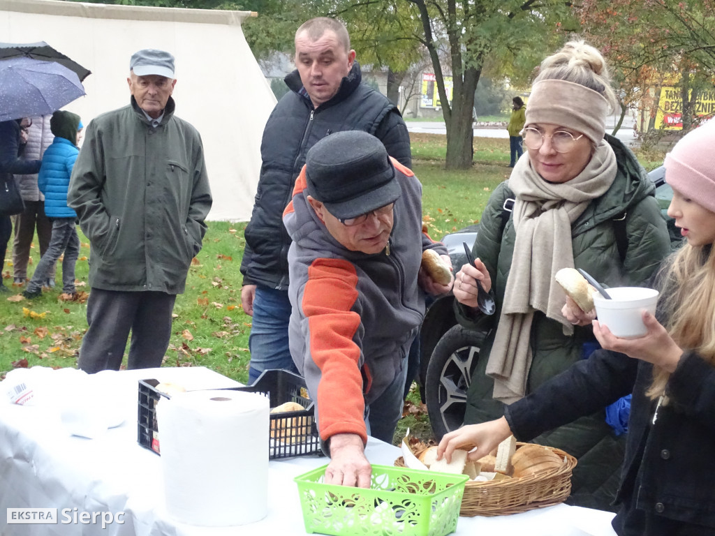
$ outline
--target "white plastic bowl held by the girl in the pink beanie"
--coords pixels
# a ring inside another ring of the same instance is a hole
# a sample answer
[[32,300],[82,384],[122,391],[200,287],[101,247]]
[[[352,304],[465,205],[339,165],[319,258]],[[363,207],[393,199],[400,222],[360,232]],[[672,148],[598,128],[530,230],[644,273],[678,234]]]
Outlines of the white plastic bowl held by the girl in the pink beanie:
[[641,287],[615,287],[606,289],[611,299],[600,293],[593,294],[598,322],[622,339],[643,337],[648,330],[643,323],[643,311],[656,314],[659,292]]

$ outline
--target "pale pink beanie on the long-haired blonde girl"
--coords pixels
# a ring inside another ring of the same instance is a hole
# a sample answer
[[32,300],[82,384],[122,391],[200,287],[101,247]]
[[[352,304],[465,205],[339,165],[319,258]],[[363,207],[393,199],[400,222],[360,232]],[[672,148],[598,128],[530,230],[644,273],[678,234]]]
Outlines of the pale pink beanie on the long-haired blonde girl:
[[686,134],[664,164],[671,187],[715,212],[715,121]]

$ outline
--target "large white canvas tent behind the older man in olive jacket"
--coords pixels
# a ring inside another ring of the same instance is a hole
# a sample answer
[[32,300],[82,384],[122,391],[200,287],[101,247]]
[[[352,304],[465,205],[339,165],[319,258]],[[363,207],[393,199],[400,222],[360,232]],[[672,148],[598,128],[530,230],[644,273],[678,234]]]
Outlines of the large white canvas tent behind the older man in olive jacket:
[[177,116],[201,133],[212,220],[247,220],[260,172],[263,127],[275,96],[246,43],[248,11],[0,0],[0,41],[50,46],[87,67],[87,95],[65,109],[84,124],[129,104],[129,57],[163,49],[176,57]]

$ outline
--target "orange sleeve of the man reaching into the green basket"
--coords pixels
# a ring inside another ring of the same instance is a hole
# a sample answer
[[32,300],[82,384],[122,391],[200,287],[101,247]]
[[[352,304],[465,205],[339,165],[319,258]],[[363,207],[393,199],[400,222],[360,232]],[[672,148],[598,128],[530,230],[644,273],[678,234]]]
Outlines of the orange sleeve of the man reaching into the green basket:
[[360,315],[352,311],[357,286],[355,267],[343,259],[316,259],[308,268],[301,305],[310,333],[310,358],[320,369],[317,410],[322,440],[342,433],[368,440],[360,347],[354,341],[360,327]]

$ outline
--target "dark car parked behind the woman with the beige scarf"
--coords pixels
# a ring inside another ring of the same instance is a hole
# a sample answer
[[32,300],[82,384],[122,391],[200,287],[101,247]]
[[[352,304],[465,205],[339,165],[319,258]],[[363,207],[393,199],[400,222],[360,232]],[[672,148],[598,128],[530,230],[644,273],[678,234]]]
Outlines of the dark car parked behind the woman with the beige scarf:
[[[665,168],[654,169],[649,177],[656,185],[656,199],[668,224],[672,247],[676,249],[681,235],[674,220],[666,214],[673,190],[665,182]],[[470,225],[442,239],[455,272],[466,262],[462,242],[471,247],[478,227]],[[420,394],[427,405],[432,430],[438,440],[463,424],[467,390],[479,359],[479,349],[487,334],[486,331],[460,326],[455,318],[453,302],[453,295],[448,294],[430,304],[420,331]]]

